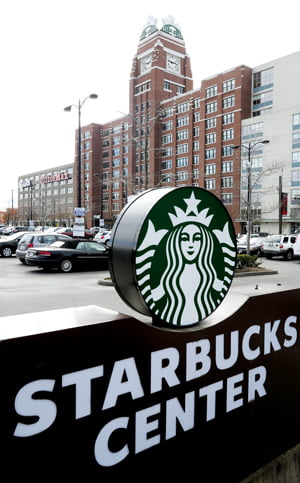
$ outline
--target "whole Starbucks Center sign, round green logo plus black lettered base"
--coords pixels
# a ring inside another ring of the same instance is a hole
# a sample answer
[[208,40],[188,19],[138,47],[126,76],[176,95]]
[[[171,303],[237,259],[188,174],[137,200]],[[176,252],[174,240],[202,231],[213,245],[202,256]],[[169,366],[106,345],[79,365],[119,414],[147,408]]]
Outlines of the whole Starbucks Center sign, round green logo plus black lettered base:
[[134,199],[111,275],[149,321],[98,306],[2,318],[2,471],[234,483],[296,445],[300,289],[235,290],[234,266],[214,196]]

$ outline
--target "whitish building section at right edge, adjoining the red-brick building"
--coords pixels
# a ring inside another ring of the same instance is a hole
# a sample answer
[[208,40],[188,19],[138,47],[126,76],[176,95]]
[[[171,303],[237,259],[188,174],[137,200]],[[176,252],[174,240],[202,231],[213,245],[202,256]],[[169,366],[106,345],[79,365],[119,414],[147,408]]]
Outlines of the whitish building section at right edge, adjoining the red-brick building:
[[242,122],[241,141],[241,213],[246,220],[251,203],[252,231],[300,226],[299,82],[300,52],[253,69],[252,117]]

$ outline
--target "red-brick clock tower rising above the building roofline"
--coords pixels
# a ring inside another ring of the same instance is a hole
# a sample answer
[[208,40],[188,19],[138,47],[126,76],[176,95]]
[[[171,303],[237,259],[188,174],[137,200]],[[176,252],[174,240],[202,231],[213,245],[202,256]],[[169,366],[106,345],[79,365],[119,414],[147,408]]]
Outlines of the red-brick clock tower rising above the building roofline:
[[190,58],[180,28],[173,17],[164,18],[161,28],[149,17],[132,62],[129,92],[136,182],[141,189],[155,185],[148,173],[159,170],[161,103],[192,89]]

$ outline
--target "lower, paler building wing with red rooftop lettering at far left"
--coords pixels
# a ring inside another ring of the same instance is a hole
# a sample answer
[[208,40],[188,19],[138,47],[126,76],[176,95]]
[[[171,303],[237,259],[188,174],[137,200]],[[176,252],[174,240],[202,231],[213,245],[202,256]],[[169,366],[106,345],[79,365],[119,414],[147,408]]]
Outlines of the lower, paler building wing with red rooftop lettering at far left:
[[73,163],[18,177],[20,225],[66,225],[74,218]]

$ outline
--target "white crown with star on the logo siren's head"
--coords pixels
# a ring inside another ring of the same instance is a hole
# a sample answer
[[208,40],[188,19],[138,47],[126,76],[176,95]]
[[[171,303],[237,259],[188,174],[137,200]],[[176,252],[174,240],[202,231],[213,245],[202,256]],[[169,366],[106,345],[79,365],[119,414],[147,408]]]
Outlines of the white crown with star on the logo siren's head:
[[173,226],[180,225],[181,223],[201,223],[201,225],[209,226],[214,215],[207,216],[209,208],[205,208],[202,211],[198,211],[198,205],[201,200],[195,198],[194,192],[192,192],[189,198],[184,198],[187,205],[186,210],[182,210],[178,206],[174,206],[175,215],[169,213],[169,217]]

